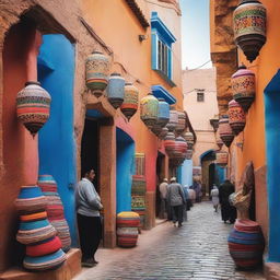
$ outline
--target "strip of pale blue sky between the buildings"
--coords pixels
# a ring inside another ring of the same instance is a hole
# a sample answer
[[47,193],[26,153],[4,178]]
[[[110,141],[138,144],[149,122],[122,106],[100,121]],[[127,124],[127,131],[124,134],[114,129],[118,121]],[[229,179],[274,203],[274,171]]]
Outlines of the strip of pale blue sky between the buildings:
[[[195,69],[210,60],[209,0],[179,0],[182,68]],[[202,68],[210,68],[208,62]]]

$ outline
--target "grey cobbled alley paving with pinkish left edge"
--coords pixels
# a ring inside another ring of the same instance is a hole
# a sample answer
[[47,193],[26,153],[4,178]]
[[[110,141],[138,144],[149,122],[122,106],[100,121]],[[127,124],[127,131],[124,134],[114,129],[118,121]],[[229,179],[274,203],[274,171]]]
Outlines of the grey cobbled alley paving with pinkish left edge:
[[136,248],[98,249],[100,264],[75,280],[265,279],[261,271],[235,270],[226,244],[231,228],[210,202],[197,203],[180,229],[161,223],[142,232]]

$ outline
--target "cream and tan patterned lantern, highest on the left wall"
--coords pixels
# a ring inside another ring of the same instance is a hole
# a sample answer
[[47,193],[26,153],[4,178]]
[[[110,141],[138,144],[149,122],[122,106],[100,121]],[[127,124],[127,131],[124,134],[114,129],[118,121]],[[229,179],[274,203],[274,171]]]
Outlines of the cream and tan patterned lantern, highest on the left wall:
[[108,83],[109,59],[94,51],[85,59],[85,83],[92,93],[100,97]]

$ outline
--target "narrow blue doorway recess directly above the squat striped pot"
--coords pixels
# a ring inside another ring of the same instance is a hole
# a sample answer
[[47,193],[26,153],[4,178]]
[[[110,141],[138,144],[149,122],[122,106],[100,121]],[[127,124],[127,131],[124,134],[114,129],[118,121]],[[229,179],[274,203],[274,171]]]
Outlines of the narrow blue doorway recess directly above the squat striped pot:
[[135,142],[117,128],[117,213],[131,211],[131,184],[135,164]]

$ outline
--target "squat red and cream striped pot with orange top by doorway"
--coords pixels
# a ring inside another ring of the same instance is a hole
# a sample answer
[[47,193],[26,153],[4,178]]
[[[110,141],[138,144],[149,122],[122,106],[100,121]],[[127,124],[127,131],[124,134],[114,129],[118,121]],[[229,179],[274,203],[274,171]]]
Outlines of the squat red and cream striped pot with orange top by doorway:
[[136,212],[120,212],[117,214],[117,244],[131,248],[137,245],[140,217]]

